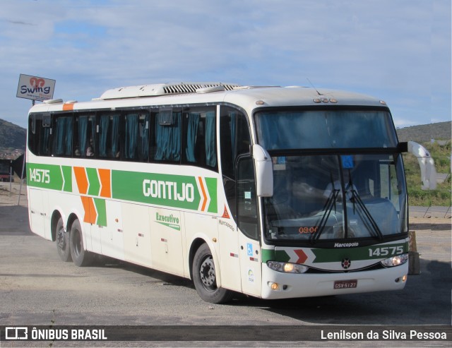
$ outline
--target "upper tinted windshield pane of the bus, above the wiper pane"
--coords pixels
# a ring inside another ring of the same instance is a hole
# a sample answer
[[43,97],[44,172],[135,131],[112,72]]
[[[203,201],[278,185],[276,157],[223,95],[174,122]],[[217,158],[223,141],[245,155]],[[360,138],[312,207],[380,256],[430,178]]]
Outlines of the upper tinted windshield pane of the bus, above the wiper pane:
[[386,110],[268,110],[257,112],[255,121],[258,143],[267,150],[397,146]]

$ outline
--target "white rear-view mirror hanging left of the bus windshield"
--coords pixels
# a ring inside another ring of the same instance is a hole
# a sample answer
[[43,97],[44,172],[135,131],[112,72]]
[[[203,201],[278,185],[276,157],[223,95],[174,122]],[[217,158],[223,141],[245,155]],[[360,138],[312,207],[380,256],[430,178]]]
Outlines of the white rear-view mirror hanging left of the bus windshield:
[[256,165],[256,193],[258,197],[273,196],[273,164],[270,155],[261,145],[253,145]]

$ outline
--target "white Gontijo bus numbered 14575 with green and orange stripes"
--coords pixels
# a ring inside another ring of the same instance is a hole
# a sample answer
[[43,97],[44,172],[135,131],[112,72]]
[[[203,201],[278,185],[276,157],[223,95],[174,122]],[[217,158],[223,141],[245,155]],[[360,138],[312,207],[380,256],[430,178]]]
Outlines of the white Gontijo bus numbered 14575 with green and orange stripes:
[[385,102],[336,90],[167,83],[49,100],[28,118],[32,232],[205,301],[403,289],[408,205]]

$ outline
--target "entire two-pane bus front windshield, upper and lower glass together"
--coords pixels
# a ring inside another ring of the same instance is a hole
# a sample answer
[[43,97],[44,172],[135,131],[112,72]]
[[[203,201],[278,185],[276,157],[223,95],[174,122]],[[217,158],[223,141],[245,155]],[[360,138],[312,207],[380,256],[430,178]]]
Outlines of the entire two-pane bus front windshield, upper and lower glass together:
[[381,241],[408,232],[403,163],[388,150],[397,146],[388,112],[255,116],[258,141],[273,161],[273,197],[263,198],[268,241]]

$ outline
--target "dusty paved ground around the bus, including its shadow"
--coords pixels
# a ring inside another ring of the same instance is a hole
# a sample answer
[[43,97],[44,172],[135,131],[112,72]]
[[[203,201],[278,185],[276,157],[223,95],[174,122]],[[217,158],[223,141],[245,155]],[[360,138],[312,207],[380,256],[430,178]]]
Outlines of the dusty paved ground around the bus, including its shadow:
[[[421,274],[403,291],[278,301],[237,296],[213,305],[189,280],[154,270],[62,263],[52,242],[30,232],[25,207],[0,205],[0,325],[451,325],[450,220],[417,219],[413,228]],[[307,345],[321,343],[326,347]],[[350,347],[342,343],[333,345]],[[189,345],[197,344],[182,344]]]

